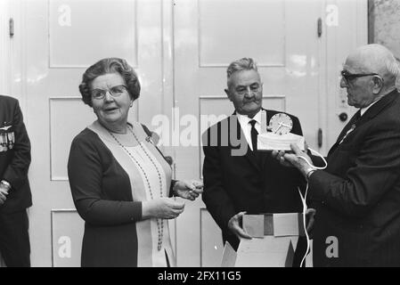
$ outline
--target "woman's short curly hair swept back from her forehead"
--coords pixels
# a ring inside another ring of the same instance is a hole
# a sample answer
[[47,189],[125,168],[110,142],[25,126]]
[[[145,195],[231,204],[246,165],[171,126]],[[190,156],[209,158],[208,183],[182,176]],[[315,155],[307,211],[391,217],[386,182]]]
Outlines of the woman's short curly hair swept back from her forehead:
[[122,78],[124,78],[131,99],[135,101],[139,98],[140,83],[135,70],[126,60],[112,57],[97,61],[94,65],[86,69],[82,76],[82,83],[79,85],[79,92],[82,95],[83,102],[92,107],[92,82],[96,77],[108,73],[118,73]]

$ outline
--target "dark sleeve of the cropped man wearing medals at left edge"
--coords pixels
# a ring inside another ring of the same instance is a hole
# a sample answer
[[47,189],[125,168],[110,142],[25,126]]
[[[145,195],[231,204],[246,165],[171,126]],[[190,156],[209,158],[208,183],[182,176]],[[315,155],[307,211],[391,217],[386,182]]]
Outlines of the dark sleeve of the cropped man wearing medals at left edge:
[[13,145],[12,161],[5,169],[4,177],[12,185],[13,190],[18,190],[26,183],[30,165],[30,142],[27,129],[23,123],[20,104],[15,101],[13,110],[13,126],[15,143]]

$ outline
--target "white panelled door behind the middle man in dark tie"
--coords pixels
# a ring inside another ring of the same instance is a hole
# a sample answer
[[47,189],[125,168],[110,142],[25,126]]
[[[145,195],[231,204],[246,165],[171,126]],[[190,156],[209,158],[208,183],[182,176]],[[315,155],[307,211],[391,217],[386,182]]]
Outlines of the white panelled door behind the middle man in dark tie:
[[[176,0],[175,104],[179,114],[192,114],[199,121],[204,115],[232,114],[233,104],[224,94],[226,68],[233,60],[252,57],[264,82],[264,108],[298,116],[306,141],[317,150],[321,41],[316,23],[322,4]],[[199,144],[207,124],[203,121],[198,128]],[[200,177],[202,160],[198,146],[177,148],[176,176]],[[176,224],[177,264],[220,265],[222,237],[205,205],[199,199],[186,205],[185,211]]]

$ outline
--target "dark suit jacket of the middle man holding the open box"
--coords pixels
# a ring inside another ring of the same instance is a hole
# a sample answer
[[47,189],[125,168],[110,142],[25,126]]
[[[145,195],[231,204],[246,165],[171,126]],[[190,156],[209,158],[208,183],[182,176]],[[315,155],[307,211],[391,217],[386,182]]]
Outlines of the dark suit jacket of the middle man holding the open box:
[[[279,112],[266,110],[267,122],[276,113]],[[291,132],[302,135],[298,118],[288,115],[293,121]],[[242,147],[245,146],[247,151],[244,155],[233,155],[232,151],[238,150],[239,146],[233,140],[228,140],[231,135],[241,142]],[[211,144],[212,136],[217,136],[216,143]],[[208,128],[202,136],[202,142],[205,154],[202,199],[221,228],[223,240],[228,240],[233,248],[237,248],[239,240],[227,225],[231,217],[239,212],[261,214],[302,211],[298,185],[304,178],[297,169],[282,167],[270,152],[257,151],[255,155],[248,147],[235,114]]]

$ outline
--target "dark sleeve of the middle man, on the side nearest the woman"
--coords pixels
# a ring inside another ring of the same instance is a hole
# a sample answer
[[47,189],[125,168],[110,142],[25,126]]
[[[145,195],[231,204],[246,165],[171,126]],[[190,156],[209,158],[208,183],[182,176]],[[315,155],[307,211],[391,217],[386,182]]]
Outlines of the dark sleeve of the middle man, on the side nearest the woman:
[[202,199],[206,204],[208,212],[213,216],[216,224],[221,230],[228,229],[228,222],[232,216],[236,215],[233,201],[224,189],[224,179],[217,146],[210,146],[208,143],[208,133],[203,134],[203,183],[204,191]]

